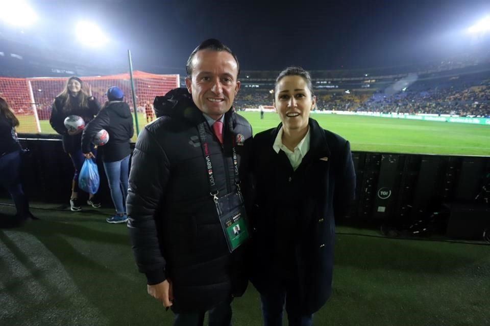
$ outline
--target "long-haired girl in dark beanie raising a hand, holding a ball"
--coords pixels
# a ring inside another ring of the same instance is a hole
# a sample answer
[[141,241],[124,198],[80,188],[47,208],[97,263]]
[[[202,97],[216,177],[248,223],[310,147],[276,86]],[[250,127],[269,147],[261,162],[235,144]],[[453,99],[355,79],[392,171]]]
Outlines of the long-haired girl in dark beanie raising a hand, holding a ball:
[[[53,129],[62,135],[63,150],[68,153],[75,168],[75,174],[71,184],[70,209],[72,211],[81,210],[81,202],[78,199],[78,174],[82,168],[85,157],[83,156],[82,144],[82,128],[73,128],[69,121],[75,123],[79,119],[68,116],[78,116],[83,119],[83,125],[89,123],[101,110],[101,105],[92,95],[90,85],[84,85],[82,79],[76,76],[69,77],[64,90],[55,98],[53,109],[51,111],[50,124]],[[93,149],[95,153],[95,149]],[[96,200],[94,194],[89,194],[87,204],[94,208],[101,206]]]

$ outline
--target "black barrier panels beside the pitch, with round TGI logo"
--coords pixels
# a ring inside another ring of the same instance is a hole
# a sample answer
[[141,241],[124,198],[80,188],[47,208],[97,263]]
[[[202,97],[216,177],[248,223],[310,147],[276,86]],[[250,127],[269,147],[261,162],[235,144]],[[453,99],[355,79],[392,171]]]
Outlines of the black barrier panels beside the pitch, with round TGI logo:
[[[74,170],[60,137],[26,136],[21,135],[22,146],[30,149],[21,173],[26,193],[32,201],[68,206]],[[487,156],[353,152],[353,160],[357,189],[349,221],[389,221],[393,225],[429,219],[455,204],[490,205],[490,191],[483,191],[485,185],[490,189]],[[112,207],[102,162],[97,160],[97,164],[100,200]],[[0,195],[8,196],[5,189],[0,189]]]

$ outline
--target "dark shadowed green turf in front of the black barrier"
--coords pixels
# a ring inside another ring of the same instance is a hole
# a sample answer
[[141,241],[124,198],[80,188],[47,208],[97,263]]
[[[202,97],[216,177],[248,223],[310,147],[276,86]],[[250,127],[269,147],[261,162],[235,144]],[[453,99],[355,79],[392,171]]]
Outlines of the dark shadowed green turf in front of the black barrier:
[[[126,226],[105,222],[110,209],[33,212],[42,220],[0,229],[1,325],[172,324],[173,314],[146,293]],[[314,324],[486,325],[488,249],[337,227],[333,293]],[[249,285],[233,302],[233,325],[260,324],[259,296]]]

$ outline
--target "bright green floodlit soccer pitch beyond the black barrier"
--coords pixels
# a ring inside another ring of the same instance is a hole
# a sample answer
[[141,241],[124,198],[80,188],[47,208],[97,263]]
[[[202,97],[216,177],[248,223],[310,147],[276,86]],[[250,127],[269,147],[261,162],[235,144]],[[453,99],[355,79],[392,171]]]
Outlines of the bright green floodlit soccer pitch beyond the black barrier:
[[[263,120],[259,112],[239,114],[247,118],[254,134],[279,124],[276,113],[266,112]],[[354,151],[490,155],[490,126],[486,125],[315,113],[311,117],[323,128],[349,140]],[[36,130],[32,116],[19,118],[19,132]],[[138,124],[140,130],[146,124],[143,114],[138,114]],[[46,120],[41,121],[41,130],[54,132]]]

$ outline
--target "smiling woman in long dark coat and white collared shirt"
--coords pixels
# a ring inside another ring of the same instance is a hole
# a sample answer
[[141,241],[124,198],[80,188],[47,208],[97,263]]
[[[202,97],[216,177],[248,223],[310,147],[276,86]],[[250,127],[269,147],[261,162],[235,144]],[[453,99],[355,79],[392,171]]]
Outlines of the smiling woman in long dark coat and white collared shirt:
[[347,214],[355,173],[349,142],[309,117],[316,102],[307,71],[276,80],[278,127],[255,135],[251,281],[265,325],[311,325],[331,292],[334,217]]

